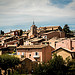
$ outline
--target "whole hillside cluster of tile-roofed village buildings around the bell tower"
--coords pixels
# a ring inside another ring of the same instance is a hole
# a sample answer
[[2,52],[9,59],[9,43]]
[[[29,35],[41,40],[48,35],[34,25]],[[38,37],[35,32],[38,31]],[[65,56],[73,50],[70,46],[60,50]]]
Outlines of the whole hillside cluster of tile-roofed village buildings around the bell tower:
[[10,30],[0,35],[0,51],[2,54],[16,51],[20,59],[38,62],[49,61],[54,53],[62,57],[66,54],[64,58],[75,58],[75,38],[66,38],[61,26],[38,28],[32,25],[27,31]]

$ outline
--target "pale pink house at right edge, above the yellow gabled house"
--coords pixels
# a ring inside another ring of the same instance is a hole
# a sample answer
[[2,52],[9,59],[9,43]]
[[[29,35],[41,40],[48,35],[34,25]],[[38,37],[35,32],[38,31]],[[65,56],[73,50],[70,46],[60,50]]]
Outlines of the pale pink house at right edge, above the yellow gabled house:
[[65,38],[56,43],[56,49],[59,47],[75,50],[75,38]]

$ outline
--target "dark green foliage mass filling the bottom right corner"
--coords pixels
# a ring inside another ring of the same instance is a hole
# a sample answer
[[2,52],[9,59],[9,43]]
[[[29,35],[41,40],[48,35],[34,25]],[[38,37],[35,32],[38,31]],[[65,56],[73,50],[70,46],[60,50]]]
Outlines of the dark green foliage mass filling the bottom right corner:
[[55,55],[46,64],[39,64],[34,75],[75,75],[75,60],[65,64],[61,56]]

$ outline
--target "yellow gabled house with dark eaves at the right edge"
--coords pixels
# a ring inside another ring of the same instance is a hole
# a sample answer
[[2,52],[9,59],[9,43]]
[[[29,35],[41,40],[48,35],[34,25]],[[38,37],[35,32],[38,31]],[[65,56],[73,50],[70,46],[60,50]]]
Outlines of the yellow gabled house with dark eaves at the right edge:
[[75,59],[75,50],[72,51],[72,50],[60,47],[52,51],[52,55],[54,54],[57,54],[57,56],[58,55],[62,56],[64,60],[66,60],[67,58]]

